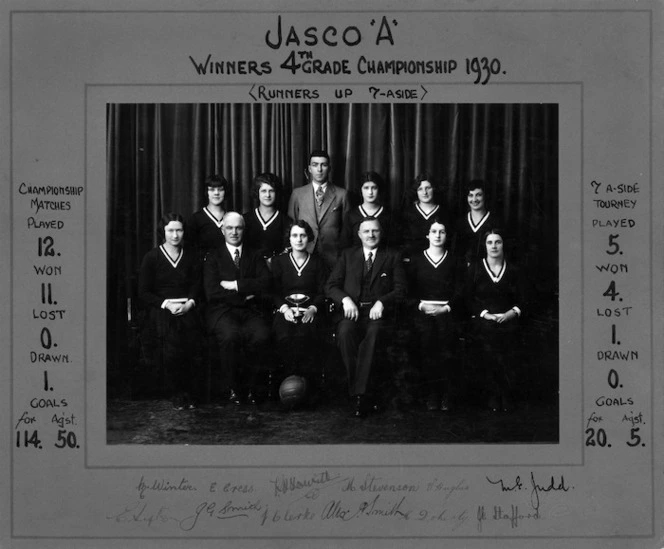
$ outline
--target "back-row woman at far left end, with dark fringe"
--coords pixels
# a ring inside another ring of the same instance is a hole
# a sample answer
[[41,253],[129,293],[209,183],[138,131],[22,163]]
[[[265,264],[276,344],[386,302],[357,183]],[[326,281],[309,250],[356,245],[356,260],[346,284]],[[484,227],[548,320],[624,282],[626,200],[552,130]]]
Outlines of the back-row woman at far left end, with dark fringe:
[[225,199],[228,181],[221,175],[211,175],[203,183],[207,205],[187,221],[187,243],[192,245],[201,261],[212,250],[224,245],[221,220],[226,213]]

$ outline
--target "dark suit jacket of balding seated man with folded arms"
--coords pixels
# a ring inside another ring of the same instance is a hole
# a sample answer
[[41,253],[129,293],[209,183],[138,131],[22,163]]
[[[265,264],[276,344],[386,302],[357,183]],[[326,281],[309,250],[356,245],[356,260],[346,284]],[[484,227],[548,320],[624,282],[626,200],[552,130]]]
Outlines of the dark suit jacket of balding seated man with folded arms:
[[[237,280],[238,291],[222,288],[222,280]],[[263,257],[244,245],[238,269],[224,245],[208,254],[203,265],[203,285],[208,301],[205,310],[207,325],[212,327],[230,309],[253,306],[258,295],[269,289],[270,271]],[[247,299],[252,295],[256,297]]]

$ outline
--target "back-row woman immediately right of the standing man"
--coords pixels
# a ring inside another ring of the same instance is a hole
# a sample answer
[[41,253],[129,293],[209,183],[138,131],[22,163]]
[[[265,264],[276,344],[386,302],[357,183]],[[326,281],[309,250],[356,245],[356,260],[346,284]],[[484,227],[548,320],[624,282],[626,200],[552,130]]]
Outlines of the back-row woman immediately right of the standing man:
[[364,172],[360,177],[362,204],[352,208],[345,216],[341,234],[341,247],[350,248],[361,244],[358,231],[365,217],[375,217],[380,221],[382,243],[391,243],[392,214],[383,204],[383,178],[376,172]]

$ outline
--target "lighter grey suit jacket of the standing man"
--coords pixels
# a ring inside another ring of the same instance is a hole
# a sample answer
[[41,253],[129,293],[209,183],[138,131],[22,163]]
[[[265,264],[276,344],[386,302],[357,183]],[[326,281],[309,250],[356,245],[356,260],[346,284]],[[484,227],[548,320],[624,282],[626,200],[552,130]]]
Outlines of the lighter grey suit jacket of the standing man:
[[350,209],[346,189],[327,184],[323,195],[323,205],[316,207],[313,184],[293,190],[288,201],[288,215],[291,219],[303,219],[314,230],[314,240],[307,251],[317,250],[328,268],[334,265],[341,245],[341,227],[343,219]]

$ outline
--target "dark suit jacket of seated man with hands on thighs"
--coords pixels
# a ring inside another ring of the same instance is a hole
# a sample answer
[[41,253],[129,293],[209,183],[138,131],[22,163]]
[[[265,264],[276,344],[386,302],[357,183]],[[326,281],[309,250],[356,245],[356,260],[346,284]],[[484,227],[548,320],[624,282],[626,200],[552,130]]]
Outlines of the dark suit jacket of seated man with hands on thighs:
[[[364,251],[362,247],[347,248],[341,252],[325,286],[327,297],[337,305],[337,314],[343,316],[341,301],[350,297],[360,304],[364,277]],[[406,272],[401,255],[390,248],[379,248],[371,270],[367,301],[380,300],[386,312],[406,296]]]

